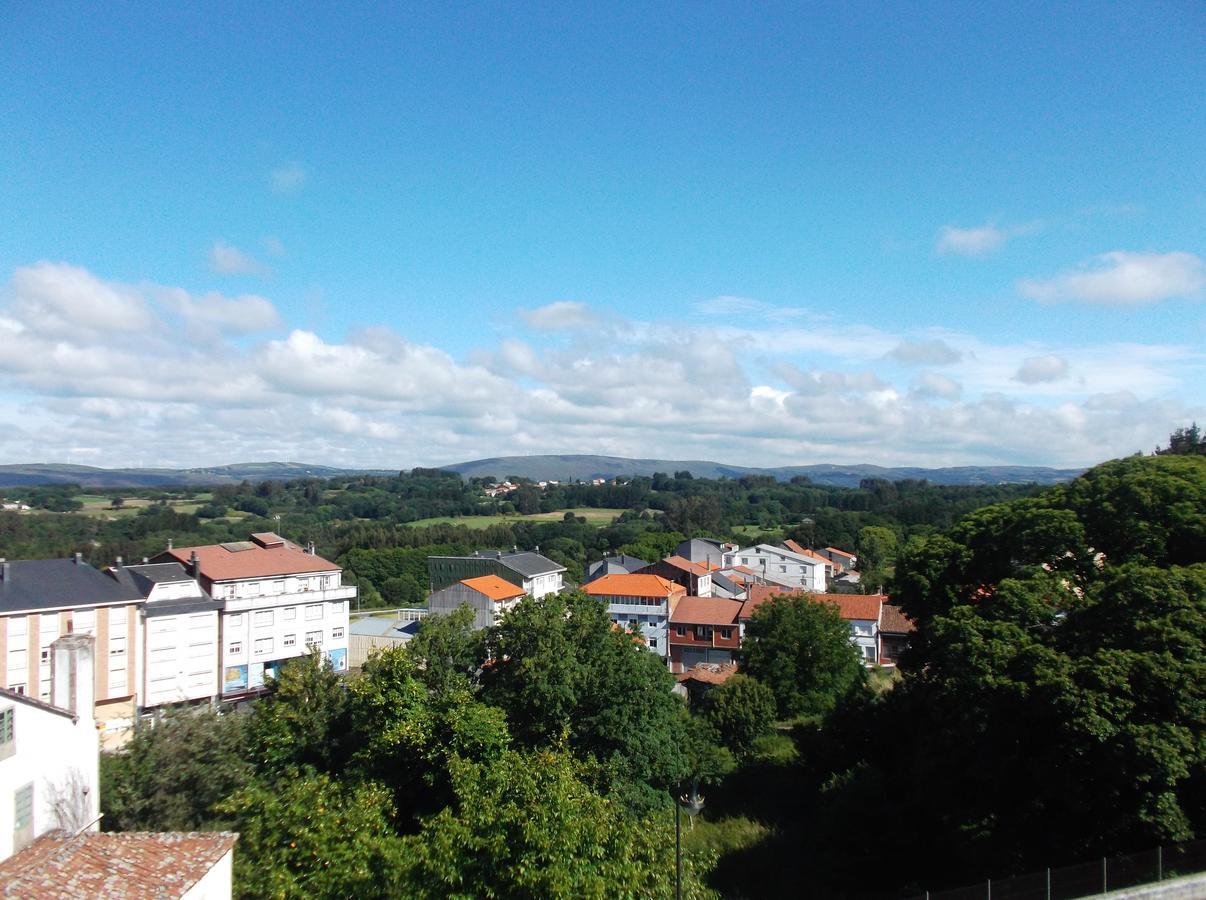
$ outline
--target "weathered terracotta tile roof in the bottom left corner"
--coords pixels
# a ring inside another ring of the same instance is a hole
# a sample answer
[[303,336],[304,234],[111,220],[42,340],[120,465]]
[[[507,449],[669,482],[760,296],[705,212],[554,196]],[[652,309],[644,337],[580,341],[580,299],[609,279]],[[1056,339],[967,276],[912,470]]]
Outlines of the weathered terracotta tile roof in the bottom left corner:
[[236,840],[229,831],[52,831],[0,863],[0,892],[30,900],[181,898]]

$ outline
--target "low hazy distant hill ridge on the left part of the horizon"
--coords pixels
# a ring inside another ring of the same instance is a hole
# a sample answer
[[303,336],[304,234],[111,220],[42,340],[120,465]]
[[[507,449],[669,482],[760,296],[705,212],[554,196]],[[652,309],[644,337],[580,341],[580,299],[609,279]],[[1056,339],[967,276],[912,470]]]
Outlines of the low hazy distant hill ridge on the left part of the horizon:
[[94,466],[28,463],[0,466],[0,487],[28,485],[77,484],[82,487],[163,487],[170,485],[215,485],[248,481],[286,481],[292,478],[333,478],[334,475],[397,474],[368,469],[340,469],[302,462],[239,462],[192,469],[103,469]]

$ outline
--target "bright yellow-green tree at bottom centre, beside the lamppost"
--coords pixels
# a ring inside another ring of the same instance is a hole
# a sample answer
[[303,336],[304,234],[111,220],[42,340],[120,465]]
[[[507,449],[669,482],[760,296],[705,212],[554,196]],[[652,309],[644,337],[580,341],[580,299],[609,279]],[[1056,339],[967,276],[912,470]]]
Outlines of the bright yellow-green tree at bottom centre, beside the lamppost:
[[[673,816],[633,818],[564,750],[451,771],[457,802],[403,838],[406,896],[673,896]],[[690,857],[683,887],[710,895]]]

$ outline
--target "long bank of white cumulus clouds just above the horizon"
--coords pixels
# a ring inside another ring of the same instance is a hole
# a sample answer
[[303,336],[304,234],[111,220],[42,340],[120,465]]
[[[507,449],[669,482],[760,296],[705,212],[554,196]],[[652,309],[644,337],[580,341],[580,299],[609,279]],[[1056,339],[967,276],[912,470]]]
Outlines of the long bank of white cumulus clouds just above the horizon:
[[[98,464],[391,469],[514,452],[1083,464],[1148,449],[1170,421],[1206,419],[1175,399],[1194,396],[1177,379],[1206,355],[1176,345],[919,340],[856,322],[838,323],[848,339],[835,341],[765,321],[646,321],[575,346],[534,328],[458,358],[384,327],[336,337],[291,325],[256,294],[21,269],[0,296],[0,456],[98,448]],[[960,347],[942,374],[900,380],[884,364],[938,364],[950,357],[939,344]]]

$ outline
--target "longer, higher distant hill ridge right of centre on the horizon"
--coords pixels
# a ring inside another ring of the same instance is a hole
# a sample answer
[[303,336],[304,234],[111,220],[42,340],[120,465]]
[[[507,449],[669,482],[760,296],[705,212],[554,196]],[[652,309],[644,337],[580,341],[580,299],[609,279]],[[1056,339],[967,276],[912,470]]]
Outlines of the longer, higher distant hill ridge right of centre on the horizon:
[[458,472],[464,478],[481,475],[520,475],[534,480],[573,481],[616,475],[651,475],[655,472],[690,472],[696,478],[740,478],[742,475],[771,475],[788,481],[796,475],[807,475],[816,484],[857,487],[865,478],[883,478],[900,481],[907,478],[927,479],[931,484],[1055,484],[1079,475],[1084,469],[1053,469],[1043,466],[958,466],[926,469],[917,467],[883,466],[781,466],[778,468],[751,468],[726,466],[706,460],[628,460],[622,456],[496,456],[490,460],[458,462],[440,468]]

